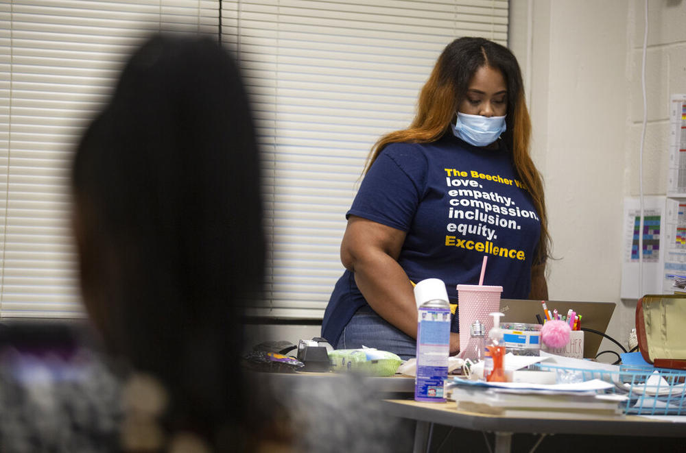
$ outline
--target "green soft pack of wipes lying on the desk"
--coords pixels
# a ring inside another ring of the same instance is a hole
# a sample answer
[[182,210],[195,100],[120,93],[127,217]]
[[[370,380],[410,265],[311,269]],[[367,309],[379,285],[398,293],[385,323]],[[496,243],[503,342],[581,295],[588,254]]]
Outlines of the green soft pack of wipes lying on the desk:
[[353,371],[367,376],[393,376],[402,359],[388,351],[373,348],[329,351],[331,370]]

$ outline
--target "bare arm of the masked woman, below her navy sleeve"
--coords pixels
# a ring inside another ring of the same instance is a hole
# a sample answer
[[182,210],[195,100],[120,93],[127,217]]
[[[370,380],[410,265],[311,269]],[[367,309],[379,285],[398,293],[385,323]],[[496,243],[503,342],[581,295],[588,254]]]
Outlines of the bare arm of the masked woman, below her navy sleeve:
[[[372,309],[416,338],[414,291],[398,263],[404,242],[405,232],[351,215],[341,243],[341,262],[355,274],[355,283]],[[460,349],[458,334],[451,333],[450,343],[451,353]]]

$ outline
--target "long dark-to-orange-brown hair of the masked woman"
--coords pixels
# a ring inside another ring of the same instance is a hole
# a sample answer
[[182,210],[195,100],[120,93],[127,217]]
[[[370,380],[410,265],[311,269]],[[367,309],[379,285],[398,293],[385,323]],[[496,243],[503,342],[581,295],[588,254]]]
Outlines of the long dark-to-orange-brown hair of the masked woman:
[[469,81],[482,66],[498,69],[507,81],[507,130],[501,138],[512,150],[514,170],[528,189],[541,218],[534,265],[543,264],[550,245],[543,180],[529,152],[531,119],[524,99],[521,71],[507,47],[484,38],[458,38],[447,45],[419,94],[417,113],[410,127],[379,138],[369,154],[365,173],[390,143],[429,143],[441,138],[449,130],[450,123],[455,122],[456,108],[469,88]]

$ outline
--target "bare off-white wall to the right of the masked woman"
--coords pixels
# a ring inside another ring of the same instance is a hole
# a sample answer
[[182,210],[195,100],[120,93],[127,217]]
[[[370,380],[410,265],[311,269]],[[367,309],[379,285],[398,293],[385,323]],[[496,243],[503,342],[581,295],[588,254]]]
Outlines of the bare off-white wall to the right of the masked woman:
[[[532,154],[557,258],[549,262],[549,296],[617,302],[608,334],[624,344],[636,301],[619,297],[622,204],[639,195],[644,4],[511,2],[510,45],[530,90]],[[664,195],[668,100],[686,93],[686,6],[650,0],[648,8],[643,186],[646,195]]]

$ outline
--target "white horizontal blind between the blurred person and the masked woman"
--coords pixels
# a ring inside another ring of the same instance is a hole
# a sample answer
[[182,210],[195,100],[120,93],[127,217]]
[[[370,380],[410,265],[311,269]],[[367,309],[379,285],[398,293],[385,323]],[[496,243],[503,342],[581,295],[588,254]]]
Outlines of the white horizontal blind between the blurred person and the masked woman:
[[263,150],[268,297],[256,315],[321,318],[375,141],[409,125],[436,58],[459,36],[506,45],[506,0],[222,2]]

